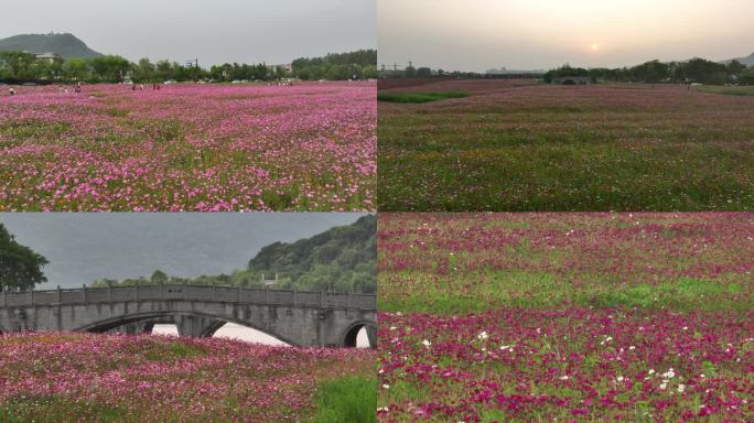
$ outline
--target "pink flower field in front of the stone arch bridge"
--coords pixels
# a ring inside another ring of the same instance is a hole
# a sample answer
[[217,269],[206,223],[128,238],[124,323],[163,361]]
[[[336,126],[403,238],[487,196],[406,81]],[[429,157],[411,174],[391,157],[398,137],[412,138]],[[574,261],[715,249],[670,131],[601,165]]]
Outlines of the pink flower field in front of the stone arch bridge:
[[364,349],[227,339],[0,336],[2,422],[302,422],[317,383],[371,377]]

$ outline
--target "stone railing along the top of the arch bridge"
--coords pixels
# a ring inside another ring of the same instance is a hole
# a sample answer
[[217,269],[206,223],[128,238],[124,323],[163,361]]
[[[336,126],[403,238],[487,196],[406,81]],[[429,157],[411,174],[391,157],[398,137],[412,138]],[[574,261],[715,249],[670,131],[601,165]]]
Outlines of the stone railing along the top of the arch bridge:
[[133,285],[1,292],[0,308],[140,301],[203,301],[321,308],[377,310],[375,294],[214,285]]

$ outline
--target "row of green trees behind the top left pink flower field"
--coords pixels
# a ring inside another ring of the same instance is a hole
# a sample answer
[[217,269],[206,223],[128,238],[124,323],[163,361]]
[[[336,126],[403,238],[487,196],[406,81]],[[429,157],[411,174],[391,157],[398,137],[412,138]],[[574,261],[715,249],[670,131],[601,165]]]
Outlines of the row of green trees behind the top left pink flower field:
[[362,79],[377,76],[377,52],[363,50],[328,54],[324,57],[297,58],[291,69],[267,64],[225,63],[208,69],[196,64],[166,59],[152,63],[142,58],[132,63],[118,55],[93,58],[37,58],[25,52],[0,52],[0,82],[19,83],[162,83],[165,80],[277,80],[281,78]]

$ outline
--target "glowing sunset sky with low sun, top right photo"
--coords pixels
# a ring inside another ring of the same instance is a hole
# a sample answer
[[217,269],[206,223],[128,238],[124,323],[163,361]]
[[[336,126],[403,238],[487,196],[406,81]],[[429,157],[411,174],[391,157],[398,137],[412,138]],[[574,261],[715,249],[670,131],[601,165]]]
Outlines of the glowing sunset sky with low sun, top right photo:
[[624,66],[754,52],[752,0],[379,0],[379,63]]

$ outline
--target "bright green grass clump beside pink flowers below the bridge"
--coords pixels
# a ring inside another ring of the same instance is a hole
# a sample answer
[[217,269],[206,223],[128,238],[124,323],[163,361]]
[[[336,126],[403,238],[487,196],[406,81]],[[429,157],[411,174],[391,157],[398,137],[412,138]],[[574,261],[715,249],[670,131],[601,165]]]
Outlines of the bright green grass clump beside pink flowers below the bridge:
[[312,423],[373,423],[377,421],[377,381],[349,376],[322,382]]

